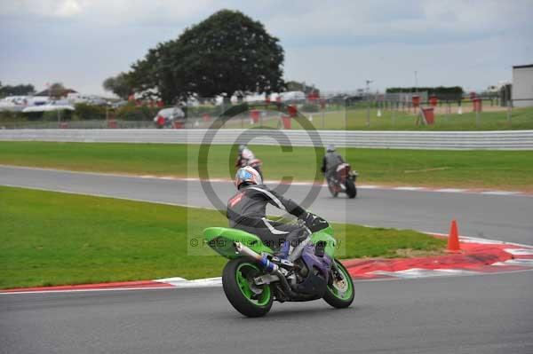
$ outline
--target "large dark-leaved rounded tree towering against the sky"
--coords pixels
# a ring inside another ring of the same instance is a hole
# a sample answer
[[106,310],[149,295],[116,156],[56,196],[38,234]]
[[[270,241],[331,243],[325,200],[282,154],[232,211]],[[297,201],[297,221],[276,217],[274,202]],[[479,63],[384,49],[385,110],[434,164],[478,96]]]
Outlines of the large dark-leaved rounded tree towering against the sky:
[[283,49],[259,21],[222,10],[158,44],[131,66],[136,90],[156,88],[165,102],[282,90]]

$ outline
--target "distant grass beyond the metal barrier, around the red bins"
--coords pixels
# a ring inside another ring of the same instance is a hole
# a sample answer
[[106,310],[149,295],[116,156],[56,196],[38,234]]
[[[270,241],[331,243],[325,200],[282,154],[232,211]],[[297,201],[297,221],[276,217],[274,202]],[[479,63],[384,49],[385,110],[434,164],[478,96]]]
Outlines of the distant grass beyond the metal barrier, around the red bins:
[[[439,108],[435,114],[433,125],[417,125],[417,115],[410,111],[378,110],[370,109],[370,125],[367,125],[367,110],[362,108],[344,109],[337,112],[303,113],[317,130],[531,130],[533,129],[533,107],[513,108],[511,122],[507,120],[505,110],[489,111],[497,109],[486,107],[486,112],[481,112],[479,122],[476,122],[476,114],[472,112],[472,106],[464,105],[463,114],[457,114],[457,106],[451,108],[451,114],[444,114],[444,108]],[[311,118],[312,117],[312,118]],[[258,124],[251,124],[250,119],[236,118],[227,122],[227,128],[252,128]],[[280,128],[279,119],[261,120],[260,125],[265,128]],[[292,129],[302,129],[297,122],[292,122]]]

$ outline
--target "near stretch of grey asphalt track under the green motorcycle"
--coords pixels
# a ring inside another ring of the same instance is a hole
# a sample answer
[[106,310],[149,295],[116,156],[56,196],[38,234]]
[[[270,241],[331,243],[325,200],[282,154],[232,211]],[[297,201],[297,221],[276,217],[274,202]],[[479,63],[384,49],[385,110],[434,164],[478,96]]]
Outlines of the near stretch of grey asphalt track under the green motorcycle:
[[354,306],[274,303],[222,288],[0,295],[2,353],[531,353],[532,272],[355,283]]

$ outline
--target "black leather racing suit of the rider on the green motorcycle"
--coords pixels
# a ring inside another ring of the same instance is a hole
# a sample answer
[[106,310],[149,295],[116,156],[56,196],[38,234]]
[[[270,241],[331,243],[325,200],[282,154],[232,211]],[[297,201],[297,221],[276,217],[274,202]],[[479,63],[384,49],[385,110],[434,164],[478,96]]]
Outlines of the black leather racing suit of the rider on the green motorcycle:
[[305,229],[295,224],[267,220],[267,204],[286,210],[293,216],[306,215],[306,210],[296,202],[283,198],[266,185],[247,185],[227,202],[229,227],[253,233],[273,249],[279,249],[284,241],[295,246],[306,236]]

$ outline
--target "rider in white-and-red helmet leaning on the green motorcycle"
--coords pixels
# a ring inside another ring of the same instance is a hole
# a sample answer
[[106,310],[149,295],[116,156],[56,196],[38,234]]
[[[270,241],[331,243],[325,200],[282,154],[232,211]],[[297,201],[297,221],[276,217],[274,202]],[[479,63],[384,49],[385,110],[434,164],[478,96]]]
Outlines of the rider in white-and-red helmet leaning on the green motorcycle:
[[306,239],[305,227],[296,224],[283,224],[267,219],[267,204],[286,210],[293,216],[313,224],[318,216],[307,212],[296,202],[263,185],[256,169],[245,166],[235,174],[236,193],[227,202],[229,227],[253,233],[270,248],[279,248],[279,258],[287,259],[298,241]]

